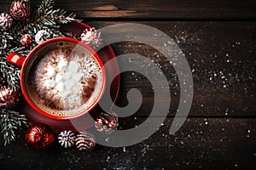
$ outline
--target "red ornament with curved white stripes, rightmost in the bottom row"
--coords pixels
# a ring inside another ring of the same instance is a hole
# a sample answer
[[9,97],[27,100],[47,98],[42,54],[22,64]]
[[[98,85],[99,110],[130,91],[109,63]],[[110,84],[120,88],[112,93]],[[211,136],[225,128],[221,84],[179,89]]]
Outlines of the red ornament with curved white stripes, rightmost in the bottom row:
[[79,132],[76,139],[76,146],[78,150],[92,150],[95,147],[95,145],[95,137],[91,133]]

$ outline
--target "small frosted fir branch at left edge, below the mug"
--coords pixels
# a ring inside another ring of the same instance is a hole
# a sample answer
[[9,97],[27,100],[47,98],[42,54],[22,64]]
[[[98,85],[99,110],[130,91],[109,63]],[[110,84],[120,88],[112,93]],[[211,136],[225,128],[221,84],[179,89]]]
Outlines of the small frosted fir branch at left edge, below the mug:
[[20,129],[22,125],[26,126],[26,116],[16,111],[6,109],[0,110],[1,133],[3,134],[4,145],[15,141],[15,130]]

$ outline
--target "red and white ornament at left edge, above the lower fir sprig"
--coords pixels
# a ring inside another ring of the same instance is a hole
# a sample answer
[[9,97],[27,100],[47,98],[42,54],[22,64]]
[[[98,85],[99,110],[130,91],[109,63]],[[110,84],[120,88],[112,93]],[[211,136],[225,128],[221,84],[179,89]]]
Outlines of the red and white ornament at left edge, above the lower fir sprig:
[[20,99],[20,90],[12,86],[3,86],[0,88],[0,106],[2,108],[12,108],[18,104]]

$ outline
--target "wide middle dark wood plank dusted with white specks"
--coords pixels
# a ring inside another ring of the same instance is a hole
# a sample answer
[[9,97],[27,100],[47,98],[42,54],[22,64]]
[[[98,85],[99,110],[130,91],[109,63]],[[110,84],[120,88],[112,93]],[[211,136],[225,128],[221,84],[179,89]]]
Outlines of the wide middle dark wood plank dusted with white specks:
[[[126,22],[90,22],[101,28]],[[170,36],[185,54],[194,80],[194,100],[189,116],[256,116],[256,32],[252,22],[136,22],[154,26]],[[115,30],[119,33],[129,29]],[[130,34],[131,35],[131,34]],[[141,33],[148,42],[152,35]],[[138,37],[140,38],[140,37]],[[161,47],[160,41],[156,47]],[[141,54],[161,66],[171,89],[170,116],[176,114],[179,103],[177,75],[168,59],[156,49],[139,42],[113,44],[117,55]],[[131,62],[144,66],[143,61]],[[124,62],[125,63],[125,62]],[[122,65],[120,63],[120,65]],[[124,64],[125,65],[125,64]],[[144,100],[138,116],[147,116],[154,104],[154,91],[146,77],[134,72],[122,75],[118,105],[127,105],[126,93],[131,88],[141,90]],[[167,88],[167,87],[166,87]],[[131,96],[132,100],[136,96]],[[165,99],[159,99],[165,101]],[[165,114],[165,113],[163,113]]]

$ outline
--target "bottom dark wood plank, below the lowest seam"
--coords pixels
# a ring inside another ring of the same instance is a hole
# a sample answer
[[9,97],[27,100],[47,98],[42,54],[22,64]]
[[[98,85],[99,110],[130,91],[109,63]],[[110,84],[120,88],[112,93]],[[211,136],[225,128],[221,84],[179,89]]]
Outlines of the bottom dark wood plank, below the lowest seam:
[[171,123],[172,119],[166,119],[159,131],[140,144],[125,148],[97,144],[89,152],[58,144],[35,152],[26,148],[22,134],[6,147],[1,140],[0,163],[4,169],[255,169],[255,119],[191,118],[175,135],[168,133]]

